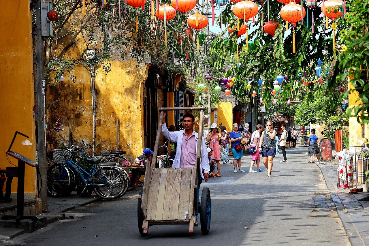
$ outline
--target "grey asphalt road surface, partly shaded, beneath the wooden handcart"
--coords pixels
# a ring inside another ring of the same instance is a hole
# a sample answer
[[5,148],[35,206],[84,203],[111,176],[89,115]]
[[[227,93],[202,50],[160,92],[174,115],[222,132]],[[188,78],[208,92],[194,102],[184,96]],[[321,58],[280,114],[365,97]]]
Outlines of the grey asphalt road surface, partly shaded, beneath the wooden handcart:
[[[185,225],[151,226],[148,236],[137,226],[138,191],[119,200],[96,202],[74,216],[27,235],[12,245],[350,245],[323,176],[310,164],[307,147],[287,149],[287,163],[275,158],[272,177],[248,173],[251,156],[243,157],[244,173],[222,165],[222,177],[202,187],[211,192],[211,228],[194,233]],[[256,167],[254,168],[256,170]],[[264,168],[265,169],[265,168]]]

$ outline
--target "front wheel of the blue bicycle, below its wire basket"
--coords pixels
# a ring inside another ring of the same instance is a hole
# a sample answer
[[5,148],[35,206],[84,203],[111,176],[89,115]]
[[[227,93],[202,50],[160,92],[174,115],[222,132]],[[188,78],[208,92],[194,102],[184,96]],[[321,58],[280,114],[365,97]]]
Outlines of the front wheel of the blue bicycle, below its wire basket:
[[70,189],[70,173],[61,164],[54,164],[47,170],[47,192],[51,197],[61,197]]

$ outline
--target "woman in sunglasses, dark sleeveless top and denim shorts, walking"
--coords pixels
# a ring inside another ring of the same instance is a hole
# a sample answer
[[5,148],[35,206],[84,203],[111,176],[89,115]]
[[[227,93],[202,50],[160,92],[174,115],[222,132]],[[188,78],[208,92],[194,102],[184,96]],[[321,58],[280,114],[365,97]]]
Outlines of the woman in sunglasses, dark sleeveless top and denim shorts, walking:
[[273,123],[268,120],[265,124],[265,130],[261,134],[259,147],[263,152],[263,163],[266,168],[268,168],[268,176],[271,177],[273,168],[273,158],[276,156],[276,144],[274,143],[274,138],[276,136],[276,131],[273,130]]

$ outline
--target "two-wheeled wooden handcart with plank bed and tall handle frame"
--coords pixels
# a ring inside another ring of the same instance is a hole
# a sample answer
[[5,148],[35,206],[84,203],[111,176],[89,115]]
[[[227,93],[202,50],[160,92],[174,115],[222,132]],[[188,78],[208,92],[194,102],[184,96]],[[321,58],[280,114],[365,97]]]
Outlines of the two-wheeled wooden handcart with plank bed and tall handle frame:
[[[189,225],[193,232],[196,223],[197,185],[200,177],[201,137],[205,107],[160,108],[159,127],[156,133],[154,155],[151,165],[146,167],[144,187],[138,197],[137,219],[141,235],[148,233],[152,225]],[[155,168],[159,140],[162,132],[164,111],[200,110],[199,141],[197,143],[196,166],[194,168]],[[203,235],[210,229],[211,200],[208,188],[201,192],[199,208]]]

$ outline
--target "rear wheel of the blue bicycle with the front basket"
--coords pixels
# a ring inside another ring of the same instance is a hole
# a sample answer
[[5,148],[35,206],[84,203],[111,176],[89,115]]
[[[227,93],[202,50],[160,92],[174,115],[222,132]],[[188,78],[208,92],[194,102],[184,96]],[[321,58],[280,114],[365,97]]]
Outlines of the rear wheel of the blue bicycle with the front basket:
[[108,179],[108,181],[105,182],[102,178],[92,181],[92,184],[101,184],[93,186],[96,195],[103,199],[118,198],[124,192],[126,186],[123,176],[117,168],[104,169],[104,175],[102,177]]

